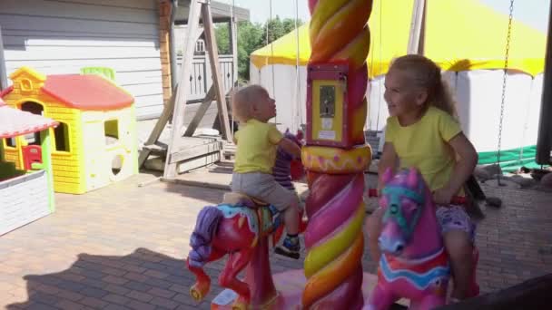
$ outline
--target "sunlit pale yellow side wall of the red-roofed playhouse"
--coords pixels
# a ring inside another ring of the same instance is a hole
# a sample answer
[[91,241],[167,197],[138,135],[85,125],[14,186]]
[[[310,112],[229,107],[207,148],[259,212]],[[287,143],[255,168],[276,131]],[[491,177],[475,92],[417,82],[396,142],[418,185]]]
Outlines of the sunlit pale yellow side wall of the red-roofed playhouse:
[[[107,144],[104,132],[113,130],[106,121],[117,120],[118,140]],[[102,188],[113,182],[126,179],[138,172],[138,148],[134,107],[116,111],[83,111],[84,171],[86,190]],[[112,160],[123,158],[120,172],[112,172]]]

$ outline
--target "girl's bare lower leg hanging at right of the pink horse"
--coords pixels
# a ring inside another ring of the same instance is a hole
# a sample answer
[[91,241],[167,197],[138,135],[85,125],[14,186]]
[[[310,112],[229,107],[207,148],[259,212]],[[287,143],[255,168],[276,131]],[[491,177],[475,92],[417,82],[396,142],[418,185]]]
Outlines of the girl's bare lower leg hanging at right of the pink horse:
[[451,229],[444,233],[445,247],[449,252],[452,265],[454,288],[452,298],[463,299],[468,295],[473,275],[473,246],[468,233],[460,229]]

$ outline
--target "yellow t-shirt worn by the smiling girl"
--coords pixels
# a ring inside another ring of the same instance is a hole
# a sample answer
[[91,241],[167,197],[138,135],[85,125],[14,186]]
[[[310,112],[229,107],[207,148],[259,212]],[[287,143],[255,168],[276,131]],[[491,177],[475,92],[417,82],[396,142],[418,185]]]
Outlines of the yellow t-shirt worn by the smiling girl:
[[418,168],[429,189],[435,190],[449,182],[455,153],[447,142],[461,131],[449,113],[430,106],[418,122],[409,126],[401,126],[397,117],[389,117],[385,141],[393,143],[400,169]]

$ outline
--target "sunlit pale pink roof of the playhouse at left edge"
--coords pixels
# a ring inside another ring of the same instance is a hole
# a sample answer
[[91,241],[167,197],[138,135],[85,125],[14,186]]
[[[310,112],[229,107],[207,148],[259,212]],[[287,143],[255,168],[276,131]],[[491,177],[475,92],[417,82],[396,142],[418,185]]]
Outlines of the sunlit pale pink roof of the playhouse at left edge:
[[0,138],[13,138],[57,126],[57,121],[11,108],[0,99]]

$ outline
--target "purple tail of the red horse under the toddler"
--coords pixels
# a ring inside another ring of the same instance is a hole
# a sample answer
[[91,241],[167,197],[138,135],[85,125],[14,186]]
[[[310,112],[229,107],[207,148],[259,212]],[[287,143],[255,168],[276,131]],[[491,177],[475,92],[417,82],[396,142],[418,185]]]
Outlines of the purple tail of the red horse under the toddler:
[[190,238],[192,247],[188,255],[190,266],[201,268],[209,260],[212,252],[212,237],[222,217],[222,211],[213,206],[202,208],[200,211]]

